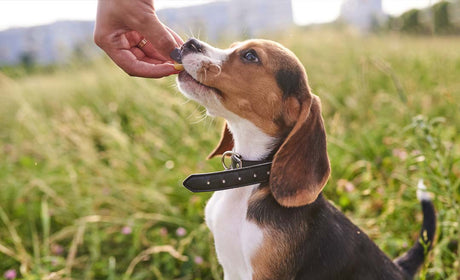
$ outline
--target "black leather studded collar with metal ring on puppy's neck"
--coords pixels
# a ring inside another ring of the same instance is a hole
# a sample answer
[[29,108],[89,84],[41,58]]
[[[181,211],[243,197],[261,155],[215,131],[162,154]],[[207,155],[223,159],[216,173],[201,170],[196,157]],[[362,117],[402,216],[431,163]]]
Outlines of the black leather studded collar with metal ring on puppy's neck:
[[[226,156],[231,156],[231,166],[225,164]],[[222,164],[226,170],[211,173],[192,174],[182,183],[192,192],[213,192],[245,187],[268,182],[271,161],[244,160],[234,152],[225,152]]]

